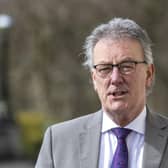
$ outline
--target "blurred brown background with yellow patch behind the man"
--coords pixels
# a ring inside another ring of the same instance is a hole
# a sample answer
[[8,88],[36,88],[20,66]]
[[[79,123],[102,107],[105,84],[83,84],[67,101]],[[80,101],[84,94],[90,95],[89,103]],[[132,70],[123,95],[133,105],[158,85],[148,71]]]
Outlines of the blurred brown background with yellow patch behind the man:
[[100,108],[83,44],[113,17],[135,20],[153,41],[151,109],[168,116],[168,1],[0,0],[0,167],[34,167],[48,125]]

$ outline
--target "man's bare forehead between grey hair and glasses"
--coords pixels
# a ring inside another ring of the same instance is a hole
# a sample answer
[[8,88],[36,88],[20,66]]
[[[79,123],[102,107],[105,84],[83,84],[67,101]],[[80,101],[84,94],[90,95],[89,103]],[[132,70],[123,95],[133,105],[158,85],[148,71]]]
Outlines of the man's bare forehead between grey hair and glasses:
[[141,44],[136,39],[101,39],[93,50],[94,63],[117,63],[126,59],[142,60],[144,52]]

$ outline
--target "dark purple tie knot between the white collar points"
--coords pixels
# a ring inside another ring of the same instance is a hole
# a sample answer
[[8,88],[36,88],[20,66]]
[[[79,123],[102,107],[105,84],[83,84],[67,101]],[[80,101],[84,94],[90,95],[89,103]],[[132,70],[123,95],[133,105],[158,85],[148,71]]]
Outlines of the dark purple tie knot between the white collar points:
[[131,132],[131,130],[127,128],[113,128],[112,131],[116,135],[117,139],[125,139]]

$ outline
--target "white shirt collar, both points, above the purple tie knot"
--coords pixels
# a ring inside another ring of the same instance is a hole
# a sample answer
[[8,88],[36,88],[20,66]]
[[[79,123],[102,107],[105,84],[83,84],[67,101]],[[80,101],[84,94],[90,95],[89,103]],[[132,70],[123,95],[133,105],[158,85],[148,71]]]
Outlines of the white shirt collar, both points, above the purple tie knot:
[[[126,125],[125,128],[129,128],[135,132],[144,134],[145,120],[146,120],[146,107],[144,107],[142,112],[132,122]],[[114,121],[112,121],[106,112],[103,112],[102,133],[116,127],[120,127],[120,126],[117,125]]]

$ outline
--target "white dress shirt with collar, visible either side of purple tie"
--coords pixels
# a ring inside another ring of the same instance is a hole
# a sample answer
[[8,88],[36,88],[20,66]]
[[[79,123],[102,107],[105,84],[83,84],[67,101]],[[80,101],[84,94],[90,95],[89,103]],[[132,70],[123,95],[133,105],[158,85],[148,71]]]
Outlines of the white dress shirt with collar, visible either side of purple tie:
[[[146,107],[144,107],[143,111],[131,123],[125,126],[125,128],[133,130],[126,139],[129,168],[142,168],[145,120]],[[106,112],[103,112],[99,168],[111,168],[110,166],[117,147],[117,138],[111,129],[116,127],[120,126],[116,125],[116,123],[108,117]]]

